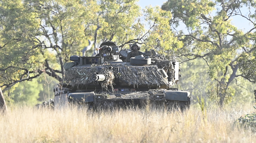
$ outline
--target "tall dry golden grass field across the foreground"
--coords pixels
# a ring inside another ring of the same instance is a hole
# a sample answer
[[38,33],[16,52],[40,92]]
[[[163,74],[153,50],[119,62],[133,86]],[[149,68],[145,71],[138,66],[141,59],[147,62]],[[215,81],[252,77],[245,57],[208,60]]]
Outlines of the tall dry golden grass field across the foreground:
[[256,142],[256,133],[234,125],[253,104],[192,106],[184,112],[127,109],[91,112],[85,109],[36,110],[9,107],[0,115],[0,142]]

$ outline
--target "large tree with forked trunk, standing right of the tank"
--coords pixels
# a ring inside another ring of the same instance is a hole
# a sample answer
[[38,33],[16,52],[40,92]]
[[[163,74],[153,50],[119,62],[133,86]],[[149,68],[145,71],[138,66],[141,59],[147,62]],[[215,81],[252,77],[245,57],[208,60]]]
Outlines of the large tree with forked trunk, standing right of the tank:
[[[252,49],[250,41],[255,31],[255,27],[240,30],[232,18],[255,24],[255,4],[249,0],[169,0],[162,5],[162,9],[173,14],[170,25],[184,43],[179,56],[184,61],[204,60],[210,78],[216,81],[209,93],[218,98],[220,105],[234,95],[230,83],[244,77],[238,72],[236,58],[242,51]],[[185,28],[178,31],[181,25]]]

